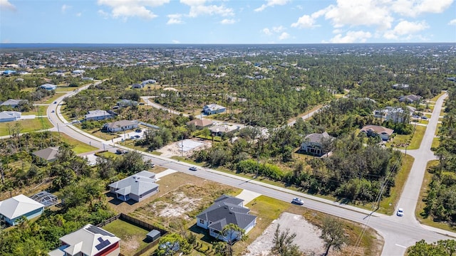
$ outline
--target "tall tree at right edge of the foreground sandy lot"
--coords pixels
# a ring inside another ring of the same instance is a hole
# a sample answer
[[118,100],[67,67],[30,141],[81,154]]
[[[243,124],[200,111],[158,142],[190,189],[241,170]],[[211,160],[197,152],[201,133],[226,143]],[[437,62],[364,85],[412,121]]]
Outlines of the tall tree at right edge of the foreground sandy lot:
[[328,255],[329,249],[341,250],[342,245],[346,243],[347,238],[343,232],[342,222],[333,217],[323,218],[320,238],[326,246],[325,256]]

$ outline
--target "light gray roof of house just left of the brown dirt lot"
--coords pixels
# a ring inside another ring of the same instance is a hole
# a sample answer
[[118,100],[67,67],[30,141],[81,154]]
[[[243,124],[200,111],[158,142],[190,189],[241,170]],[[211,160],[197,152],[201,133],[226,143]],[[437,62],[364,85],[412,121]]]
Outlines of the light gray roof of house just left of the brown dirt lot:
[[120,181],[110,183],[109,186],[111,188],[117,188],[115,193],[123,196],[127,196],[130,193],[140,196],[147,191],[157,188],[158,184],[155,183],[155,174],[150,171],[141,171]]

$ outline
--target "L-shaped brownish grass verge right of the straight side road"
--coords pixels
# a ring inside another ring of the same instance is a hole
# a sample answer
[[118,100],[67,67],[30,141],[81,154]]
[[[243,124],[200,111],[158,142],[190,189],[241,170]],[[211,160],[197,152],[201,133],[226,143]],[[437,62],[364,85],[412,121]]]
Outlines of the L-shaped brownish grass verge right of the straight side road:
[[[429,161],[426,166],[426,170],[429,169],[430,166],[436,166],[438,164],[438,160],[433,160]],[[421,183],[421,190],[420,190],[420,197],[418,198],[418,202],[416,204],[415,208],[415,216],[417,220],[423,224],[423,225],[428,225],[434,228],[440,228],[442,230],[448,230],[451,232],[456,232],[456,228],[452,228],[450,225],[441,223],[441,222],[435,222],[432,220],[432,218],[423,218],[421,213],[423,213],[423,210],[426,206],[425,202],[423,201],[425,196],[427,196],[427,191],[429,190],[429,183],[432,181],[432,174],[430,174],[428,171],[425,172],[425,177],[423,178],[423,183]]]

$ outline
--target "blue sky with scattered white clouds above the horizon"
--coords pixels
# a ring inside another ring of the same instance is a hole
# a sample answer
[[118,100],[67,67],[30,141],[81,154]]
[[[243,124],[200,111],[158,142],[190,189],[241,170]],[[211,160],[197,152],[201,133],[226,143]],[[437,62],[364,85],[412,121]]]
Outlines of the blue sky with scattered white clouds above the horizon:
[[1,43],[456,42],[455,0],[0,0]]

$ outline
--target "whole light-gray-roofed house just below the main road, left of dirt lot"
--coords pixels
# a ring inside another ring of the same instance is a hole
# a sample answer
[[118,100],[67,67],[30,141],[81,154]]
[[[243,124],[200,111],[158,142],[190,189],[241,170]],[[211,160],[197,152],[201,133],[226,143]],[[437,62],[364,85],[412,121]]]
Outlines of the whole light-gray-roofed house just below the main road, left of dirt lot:
[[150,171],[140,171],[138,174],[110,183],[109,188],[118,199],[122,201],[132,199],[137,202],[159,191],[158,184],[155,183],[155,174]]

